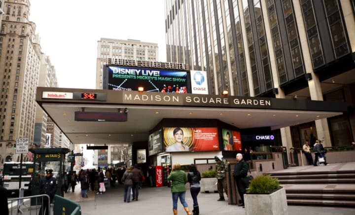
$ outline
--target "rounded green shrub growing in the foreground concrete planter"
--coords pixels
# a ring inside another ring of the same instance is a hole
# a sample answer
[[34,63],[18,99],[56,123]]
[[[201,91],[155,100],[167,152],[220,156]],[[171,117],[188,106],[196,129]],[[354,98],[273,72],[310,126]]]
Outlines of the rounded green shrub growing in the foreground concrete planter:
[[270,194],[280,188],[278,179],[271,178],[270,175],[260,175],[250,181],[249,194]]

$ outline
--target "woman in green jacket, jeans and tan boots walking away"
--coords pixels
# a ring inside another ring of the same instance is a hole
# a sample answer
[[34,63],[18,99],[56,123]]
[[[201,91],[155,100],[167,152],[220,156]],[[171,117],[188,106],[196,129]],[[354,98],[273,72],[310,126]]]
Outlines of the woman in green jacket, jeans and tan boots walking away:
[[184,171],[180,170],[180,164],[175,163],[173,165],[173,171],[168,176],[168,180],[172,182],[172,196],[173,196],[173,212],[174,215],[178,214],[178,198],[180,199],[181,204],[183,205],[186,214],[191,215],[190,209],[188,208],[187,203],[185,202],[185,183],[187,182],[187,176]]

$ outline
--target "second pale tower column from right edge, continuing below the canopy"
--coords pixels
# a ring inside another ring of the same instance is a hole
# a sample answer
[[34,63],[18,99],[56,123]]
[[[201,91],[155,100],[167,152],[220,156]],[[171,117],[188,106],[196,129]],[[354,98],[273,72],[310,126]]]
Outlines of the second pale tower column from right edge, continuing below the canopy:
[[[304,66],[307,73],[312,74],[312,79],[308,80],[308,87],[311,95],[311,100],[323,101],[323,94],[320,87],[320,80],[316,73],[313,71],[313,63],[310,54],[310,48],[308,45],[308,38],[306,35],[306,28],[303,22],[303,14],[300,1],[295,0],[293,2],[295,18],[298,25],[298,33],[302,48],[302,55],[304,60]],[[323,146],[331,146],[329,128],[327,119],[316,119],[317,138],[324,140]],[[303,144],[303,143],[302,143]]]

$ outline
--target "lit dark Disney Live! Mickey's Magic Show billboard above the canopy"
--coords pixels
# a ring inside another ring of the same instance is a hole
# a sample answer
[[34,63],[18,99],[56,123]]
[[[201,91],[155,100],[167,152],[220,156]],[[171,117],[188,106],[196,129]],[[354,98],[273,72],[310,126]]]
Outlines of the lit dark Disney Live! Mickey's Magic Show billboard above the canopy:
[[109,90],[187,93],[187,72],[160,69],[108,67]]

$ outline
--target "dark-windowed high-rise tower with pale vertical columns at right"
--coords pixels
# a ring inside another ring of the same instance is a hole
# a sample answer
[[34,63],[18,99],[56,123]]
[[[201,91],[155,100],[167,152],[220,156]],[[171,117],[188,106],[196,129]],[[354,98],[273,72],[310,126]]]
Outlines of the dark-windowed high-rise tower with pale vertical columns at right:
[[279,144],[354,140],[354,1],[167,0],[165,10],[167,61],[207,71],[210,94],[348,103],[343,115],[274,131]]

